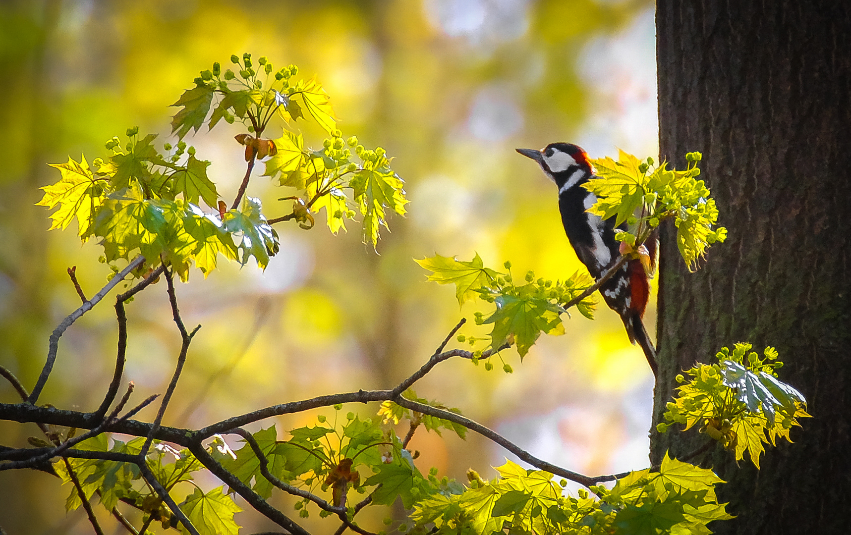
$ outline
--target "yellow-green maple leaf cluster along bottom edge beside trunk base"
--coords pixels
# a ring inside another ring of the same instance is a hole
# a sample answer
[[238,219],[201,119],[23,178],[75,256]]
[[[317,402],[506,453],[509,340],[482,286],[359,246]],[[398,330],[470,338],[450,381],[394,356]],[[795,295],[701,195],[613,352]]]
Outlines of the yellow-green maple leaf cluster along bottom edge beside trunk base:
[[457,494],[434,494],[414,506],[413,532],[545,534],[710,533],[711,521],[732,518],[717,503],[711,470],[671,459],[660,470],[631,472],[611,490],[591,487],[579,498],[543,470],[525,470],[506,460],[499,475],[483,481],[468,473],[469,485]]

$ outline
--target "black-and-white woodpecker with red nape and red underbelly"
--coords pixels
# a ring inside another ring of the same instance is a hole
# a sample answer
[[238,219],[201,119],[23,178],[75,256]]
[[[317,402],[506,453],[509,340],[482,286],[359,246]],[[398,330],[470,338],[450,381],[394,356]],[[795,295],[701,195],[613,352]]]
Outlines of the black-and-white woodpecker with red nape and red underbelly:
[[[599,280],[607,268],[618,261],[620,242],[614,239],[614,218],[602,219],[585,211],[597,202],[597,196],[582,187],[594,176],[585,151],[570,143],[551,143],[540,151],[517,149],[517,152],[538,162],[544,174],[558,186],[558,210],[562,213],[562,225],[570,245],[591,276]],[[626,230],[625,225],[619,229]],[[656,351],[642,322],[650,293],[642,261],[626,262],[603,283],[600,293],[608,307],[620,315],[632,344],[641,345],[656,375]]]

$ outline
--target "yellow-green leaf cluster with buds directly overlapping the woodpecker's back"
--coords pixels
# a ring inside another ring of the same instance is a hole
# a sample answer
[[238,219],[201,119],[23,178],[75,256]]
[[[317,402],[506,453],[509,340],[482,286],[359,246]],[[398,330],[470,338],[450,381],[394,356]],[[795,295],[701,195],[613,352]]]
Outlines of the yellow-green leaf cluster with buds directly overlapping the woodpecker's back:
[[616,162],[611,157],[591,159],[597,177],[583,187],[597,196],[597,202],[588,212],[603,219],[614,217],[615,225],[629,225],[615,236],[629,250],[637,249],[662,221],[673,219],[677,247],[688,269],[694,270],[706,248],[727,237],[725,228],[712,228],[718,209],[704,181],[696,178],[700,158],[700,152],[689,152],[684,171],[668,169],[667,162],[654,167],[653,158],[641,162],[624,151]]

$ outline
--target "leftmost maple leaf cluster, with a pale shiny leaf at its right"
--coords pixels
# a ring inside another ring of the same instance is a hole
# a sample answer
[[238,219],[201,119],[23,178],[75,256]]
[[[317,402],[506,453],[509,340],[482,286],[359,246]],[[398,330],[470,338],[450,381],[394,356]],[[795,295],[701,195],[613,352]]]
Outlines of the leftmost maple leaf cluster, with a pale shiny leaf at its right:
[[208,276],[219,254],[243,264],[254,257],[257,265],[266,267],[278,242],[259,199],[245,197],[238,209],[205,212],[199,200],[214,207],[219,197],[207,177],[209,162],[198,160],[192,147],[186,151],[183,141],[175,147],[166,144],[166,150],[174,151],[163,155],[152,145],[155,134],[139,139],[136,128],[127,134],[124,147],[117,138],[106,143],[111,151],[106,162],[98,158],[89,167],[82,157],[80,162],[69,158],[52,166],[62,178],[44,186],[37,203],[59,207],[50,216],[51,229],[65,229],[76,219],[80,238],[100,238],[101,261],[110,265],[143,255],[146,265],[137,276],[161,262],[172,265],[184,281],[191,262]]

